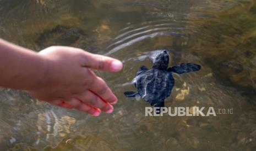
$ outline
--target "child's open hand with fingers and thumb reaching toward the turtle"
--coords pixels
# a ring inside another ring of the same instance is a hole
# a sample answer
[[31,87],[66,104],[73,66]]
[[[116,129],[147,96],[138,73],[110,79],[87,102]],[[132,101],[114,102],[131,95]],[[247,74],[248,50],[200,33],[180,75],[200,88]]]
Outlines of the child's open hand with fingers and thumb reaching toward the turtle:
[[90,70],[120,71],[122,62],[71,47],[49,47],[39,52],[45,74],[28,92],[57,106],[74,108],[92,115],[113,111],[117,97],[104,80]]

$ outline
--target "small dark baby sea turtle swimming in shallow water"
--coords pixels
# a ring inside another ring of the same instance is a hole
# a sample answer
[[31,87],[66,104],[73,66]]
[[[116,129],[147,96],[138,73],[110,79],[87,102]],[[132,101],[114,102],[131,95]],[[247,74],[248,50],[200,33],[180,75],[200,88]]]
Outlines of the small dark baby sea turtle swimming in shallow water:
[[179,66],[168,68],[169,55],[166,50],[160,50],[152,58],[153,66],[148,69],[141,66],[132,80],[132,83],[138,89],[138,92],[127,91],[124,95],[127,97],[141,96],[151,106],[164,107],[165,98],[170,96],[175,84],[172,77],[173,73],[186,73],[199,71],[200,66],[194,63],[181,63]]

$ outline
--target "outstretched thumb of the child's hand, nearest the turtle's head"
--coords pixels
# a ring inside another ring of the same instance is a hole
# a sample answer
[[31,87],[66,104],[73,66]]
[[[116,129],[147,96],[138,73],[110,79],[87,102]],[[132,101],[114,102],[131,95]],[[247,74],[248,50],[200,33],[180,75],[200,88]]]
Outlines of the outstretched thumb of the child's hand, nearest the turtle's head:
[[112,57],[85,52],[84,58],[85,63],[83,66],[88,68],[113,72],[121,71],[123,68],[123,63],[117,59],[113,59]]

